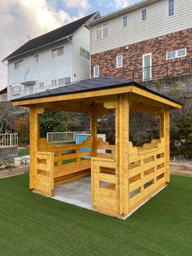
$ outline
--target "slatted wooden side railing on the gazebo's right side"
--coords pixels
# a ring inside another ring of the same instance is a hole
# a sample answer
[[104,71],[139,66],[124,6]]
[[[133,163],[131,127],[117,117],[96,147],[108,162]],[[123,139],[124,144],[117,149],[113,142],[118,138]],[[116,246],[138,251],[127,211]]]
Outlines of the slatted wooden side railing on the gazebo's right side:
[[129,143],[129,212],[164,184],[164,138],[142,148],[133,148]]

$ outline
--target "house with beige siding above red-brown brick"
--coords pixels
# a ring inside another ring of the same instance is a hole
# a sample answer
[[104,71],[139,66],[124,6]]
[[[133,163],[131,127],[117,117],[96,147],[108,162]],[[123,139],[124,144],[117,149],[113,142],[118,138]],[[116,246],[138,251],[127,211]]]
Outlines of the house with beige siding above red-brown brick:
[[144,0],[89,23],[91,77],[192,73],[191,0]]

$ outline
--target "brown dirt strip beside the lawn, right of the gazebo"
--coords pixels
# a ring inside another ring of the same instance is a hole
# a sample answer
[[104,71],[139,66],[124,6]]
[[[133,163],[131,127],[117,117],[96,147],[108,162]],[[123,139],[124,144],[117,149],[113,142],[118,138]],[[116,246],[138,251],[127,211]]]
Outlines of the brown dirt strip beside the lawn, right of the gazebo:
[[170,163],[170,174],[192,177],[192,165],[185,163]]

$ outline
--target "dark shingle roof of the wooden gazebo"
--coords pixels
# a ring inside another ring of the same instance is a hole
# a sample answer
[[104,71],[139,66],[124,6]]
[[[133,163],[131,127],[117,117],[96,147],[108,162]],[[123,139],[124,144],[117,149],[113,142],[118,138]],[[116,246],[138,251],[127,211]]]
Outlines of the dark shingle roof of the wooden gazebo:
[[89,78],[89,79],[82,80],[80,82],[74,82],[72,84],[69,84],[68,86],[62,86],[52,90],[42,91],[40,93],[36,93],[33,95],[27,95],[24,97],[20,97],[18,99],[12,99],[11,101],[14,102],[14,101],[22,101],[26,99],[41,99],[41,98],[59,96],[59,95],[72,95],[75,93],[82,93],[86,91],[103,90],[103,89],[107,90],[107,89],[123,87],[123,86],[136,86],[142,90],[149,91],[154,95],[158,95],[164,99],[168,99],[174,103],[180,104],[177,101],[170,99],[165,95],[160,95],[154,90],[151,90],[146,86],[142,86],[138,84],[137,82],[133,82],[129,80],[124,81],[115,77]]

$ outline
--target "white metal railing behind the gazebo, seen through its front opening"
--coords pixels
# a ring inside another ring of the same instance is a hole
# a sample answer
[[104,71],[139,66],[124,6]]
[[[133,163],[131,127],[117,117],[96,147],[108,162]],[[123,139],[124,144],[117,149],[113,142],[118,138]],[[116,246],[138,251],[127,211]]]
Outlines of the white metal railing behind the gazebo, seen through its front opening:
[[47,143],[70,143],[76,141],[76,134],[89,134],[89,131],[47,132]]

